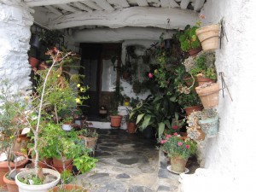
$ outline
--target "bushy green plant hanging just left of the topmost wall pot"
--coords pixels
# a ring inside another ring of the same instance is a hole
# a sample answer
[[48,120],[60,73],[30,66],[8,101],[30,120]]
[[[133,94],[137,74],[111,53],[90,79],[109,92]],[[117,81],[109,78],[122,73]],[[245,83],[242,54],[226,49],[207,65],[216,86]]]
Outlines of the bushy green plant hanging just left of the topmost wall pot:
[[201,51],[201,43],[197,38],[195,31],[199,26],[187,25],[183,32],[178,34],[178,40],[181,44],[181,49],[185,52],[189,52],[189,55],[195,56]]

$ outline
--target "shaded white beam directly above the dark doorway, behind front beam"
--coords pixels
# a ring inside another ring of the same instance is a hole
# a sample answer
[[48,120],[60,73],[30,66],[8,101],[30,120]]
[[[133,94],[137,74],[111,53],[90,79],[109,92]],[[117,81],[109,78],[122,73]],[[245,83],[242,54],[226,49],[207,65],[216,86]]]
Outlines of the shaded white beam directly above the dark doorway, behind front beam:
[[119,42],[123,40],[159,40],[163,29],[154,27],[123,27],[119,29],[85,29],[74,34],[74,42],[99,43]]

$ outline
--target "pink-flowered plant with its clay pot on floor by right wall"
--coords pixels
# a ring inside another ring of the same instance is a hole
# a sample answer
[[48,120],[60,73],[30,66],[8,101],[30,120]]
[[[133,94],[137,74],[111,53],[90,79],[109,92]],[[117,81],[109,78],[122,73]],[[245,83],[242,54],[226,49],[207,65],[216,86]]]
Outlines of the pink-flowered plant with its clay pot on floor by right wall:
[[177,133],[168,135],[161,143],[164,143],[164,148],[171,158],[171,172],[184,172],[189,156],[196,152],[196,143],[189,138],[183,140]]

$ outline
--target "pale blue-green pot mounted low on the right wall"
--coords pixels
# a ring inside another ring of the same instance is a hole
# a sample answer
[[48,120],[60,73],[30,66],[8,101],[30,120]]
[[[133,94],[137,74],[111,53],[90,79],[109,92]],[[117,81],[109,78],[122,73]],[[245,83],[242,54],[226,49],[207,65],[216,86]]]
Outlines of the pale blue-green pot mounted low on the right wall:
[[209,119],[200,119],[198,121],[201,130],[204,131],[207,137],[216,137],[218,134],[218,116]]

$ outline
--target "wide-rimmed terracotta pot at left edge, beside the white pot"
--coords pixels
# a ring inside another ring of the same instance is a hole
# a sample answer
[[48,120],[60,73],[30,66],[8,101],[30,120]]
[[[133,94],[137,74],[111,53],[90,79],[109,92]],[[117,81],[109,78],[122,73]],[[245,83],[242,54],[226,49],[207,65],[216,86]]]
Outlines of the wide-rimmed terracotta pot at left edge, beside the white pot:
[[[15,152],[16,155],[22,155],[25,156],[24,154],[21,154],[19,152]],[[22,160],[20,162],[17,163],[16,168],[24,168],[24,166],[26,165],[26,163],[28,162],[28,158],[26,157],[26,160]],[[15,168],[15,163],[10,162],[10,168],[14,169]],[[9,168],[8,168],[8,161],[3,161],[0,162],[0,189],[7,189],[6,184],[3,182],[3,176],[5,175],[5,173],[9,172]]]

